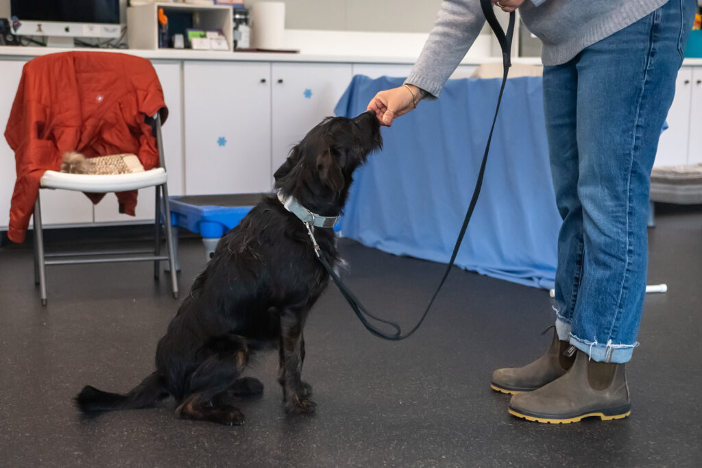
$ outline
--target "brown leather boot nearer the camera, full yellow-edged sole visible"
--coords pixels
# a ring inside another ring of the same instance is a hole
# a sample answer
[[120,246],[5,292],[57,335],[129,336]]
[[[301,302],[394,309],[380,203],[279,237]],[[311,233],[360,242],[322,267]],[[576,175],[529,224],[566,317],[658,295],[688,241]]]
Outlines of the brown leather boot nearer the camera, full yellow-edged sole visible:
[[618,420],[627,417],[630,408],[624,364],[591,361],[578,351],[563,377],[512,396],[509,412],[529,421],[566,424],[591,416]]

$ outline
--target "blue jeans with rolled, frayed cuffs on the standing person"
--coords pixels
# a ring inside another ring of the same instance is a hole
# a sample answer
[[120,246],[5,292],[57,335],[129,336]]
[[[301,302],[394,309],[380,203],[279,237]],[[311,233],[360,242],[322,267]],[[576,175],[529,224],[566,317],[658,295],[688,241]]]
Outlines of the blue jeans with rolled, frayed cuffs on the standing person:
[[544,67],[558,235],[556,330],[595,361],[631,359],[646,292],[651,167],[694,0]]

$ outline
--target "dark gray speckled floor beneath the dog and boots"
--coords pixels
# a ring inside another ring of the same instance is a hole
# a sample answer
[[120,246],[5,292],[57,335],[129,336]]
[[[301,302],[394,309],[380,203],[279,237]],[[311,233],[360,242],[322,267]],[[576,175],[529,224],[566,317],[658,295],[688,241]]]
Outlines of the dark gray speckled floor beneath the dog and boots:
[[[168,281],[147,264],[52,267],[39,305],[29,246],[0,247],[0,465],[130,467],[702,466],[702,211],[658,215],[651,230],[641,347],[628,366],[631,417],[566,426],[524,422],[489,389],[499,366],[538,356],[550,337],[548,293],[454,271],[423,328],[388,343],[360,326],[338,291],[305,330],[303,376],[314,417],[285,415],[277,356],[249,372],[263,398],[244,401],[243,427],[176,420],[158,408],[81,417],[72,396],[90,383],[124,392],[152,371],[176,312]],[[183,290],[202,267],[181,246]],[[343,241],[348,283],[372,310],[416,320],[442,265]]]

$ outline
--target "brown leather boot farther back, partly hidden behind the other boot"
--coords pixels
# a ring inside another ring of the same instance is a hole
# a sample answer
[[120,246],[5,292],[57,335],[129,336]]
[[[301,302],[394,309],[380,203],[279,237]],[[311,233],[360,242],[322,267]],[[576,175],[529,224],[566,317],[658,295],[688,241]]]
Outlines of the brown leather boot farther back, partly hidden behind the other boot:
[[[554,327],[551,347],[546,354],[524,367],[496,370],[492,374],[491,389],[506,394],[515,394],[531,392],[543,387],[566,373],[573,365],[575,357],[572,354],[570,357],[564,355],[568,348],[568,342],[558,339]],[[574,350],[575,348],[573,348]]]

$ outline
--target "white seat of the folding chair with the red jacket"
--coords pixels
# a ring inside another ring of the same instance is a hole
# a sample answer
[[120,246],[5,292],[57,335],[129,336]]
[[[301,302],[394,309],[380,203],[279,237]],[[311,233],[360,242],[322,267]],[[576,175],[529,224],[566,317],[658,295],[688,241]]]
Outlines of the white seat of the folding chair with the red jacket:
[[93,193],[125,192],[126,190],[161,185],[166,182],[167,178],[168,174],[164,168],[115,175],[68,174],[46,171],[41,177],[41,188]]

